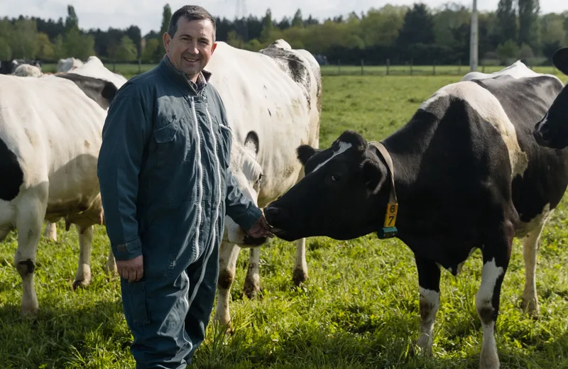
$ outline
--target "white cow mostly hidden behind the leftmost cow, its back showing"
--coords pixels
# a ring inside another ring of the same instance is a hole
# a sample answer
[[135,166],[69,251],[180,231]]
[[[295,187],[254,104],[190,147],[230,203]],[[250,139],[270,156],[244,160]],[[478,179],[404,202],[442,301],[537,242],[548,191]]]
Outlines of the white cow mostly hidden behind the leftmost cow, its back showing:
[[[108,70],[107,67],[105,67],[104,64],[101,62],[101,60],[96,56],[90,56],[87,59],[87,62],[85,63],[74,58],[68,58],[65,60],[70,61],[71,59],[75,60],[75,62],[77,61],[80,62],[80,64],[76,63],[76,66],[73,67],[72,70],[69,70],[69,73],[104,79],[105,81],[112,82],[114,86],[116,86],[116,89],[119,89],[120,87],[122,87],[123,84],[126,83],[127,79],[125,77],[119,75],[118,73],[114,73]],[[57,241],[57,228],[55,227],[55,224],[50,223],[48,221],[47,224],[45,225],[45,231],[43,233],[43,236],[52,241]],[[107,261],[106,270],[107,271],[116,270],[114,255],[112,255],[111,252],[109,252],[109,260]]]

